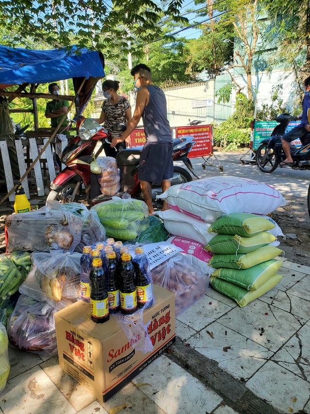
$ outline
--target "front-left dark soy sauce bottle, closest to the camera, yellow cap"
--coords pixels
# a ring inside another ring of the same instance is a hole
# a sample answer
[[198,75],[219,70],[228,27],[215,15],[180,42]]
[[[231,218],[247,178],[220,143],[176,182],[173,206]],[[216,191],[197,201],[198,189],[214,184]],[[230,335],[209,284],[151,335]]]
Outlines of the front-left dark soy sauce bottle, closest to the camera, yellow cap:
[[92,321],[104,323],[109,320],[109,299],[106,290],[106,277],[100,258],[93,259],[90,274]]

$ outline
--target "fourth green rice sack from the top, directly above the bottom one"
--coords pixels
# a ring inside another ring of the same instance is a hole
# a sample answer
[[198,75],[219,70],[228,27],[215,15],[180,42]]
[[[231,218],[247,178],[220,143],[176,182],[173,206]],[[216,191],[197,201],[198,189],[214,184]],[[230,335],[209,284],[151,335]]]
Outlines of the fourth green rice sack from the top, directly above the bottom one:
[[271,276],[278,272],[282,264],[282,260],[272,259],[244,270],[221,267],[215,270],[212,273],[212,276],[227,282],[232,282],[247,290],[257,290],[262,284],[267,282]]

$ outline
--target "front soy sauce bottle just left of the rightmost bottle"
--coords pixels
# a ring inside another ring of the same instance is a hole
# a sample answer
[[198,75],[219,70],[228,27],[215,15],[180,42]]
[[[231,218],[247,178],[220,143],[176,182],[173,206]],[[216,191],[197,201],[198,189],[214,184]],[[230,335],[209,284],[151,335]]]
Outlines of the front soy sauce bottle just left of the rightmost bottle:
[[122,254],[120,301],[121,312],[131,315],[137,310],[137,290],[135,285],[135,268],[129,253]]

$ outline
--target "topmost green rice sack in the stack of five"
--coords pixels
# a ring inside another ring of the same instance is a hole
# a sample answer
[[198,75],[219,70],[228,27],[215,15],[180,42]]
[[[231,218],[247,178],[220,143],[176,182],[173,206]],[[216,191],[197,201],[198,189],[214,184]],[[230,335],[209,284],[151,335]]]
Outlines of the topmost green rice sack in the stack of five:
[[238,234],[243,237],[252,237],[276,226],[267,218],[249,213],[231,213],[219,217],[208,229],[208,232],[218,234]]

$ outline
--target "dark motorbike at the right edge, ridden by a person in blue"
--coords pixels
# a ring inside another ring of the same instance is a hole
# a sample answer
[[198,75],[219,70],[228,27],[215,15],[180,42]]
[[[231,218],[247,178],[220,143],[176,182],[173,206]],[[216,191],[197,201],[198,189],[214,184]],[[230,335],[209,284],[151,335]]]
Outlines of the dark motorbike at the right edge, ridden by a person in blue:
[[[285,133],[288,124],[297,120],[290,114],[281,114],[275,119],[279,125],[275,127],[271,137],[264,139],[256,151],[255,161],[258,168],[263,172],[273,172],[280,162],[284,161],[286,155],[282,149],[281,137]],[[294,169],[310,169],[310,132],[300,137],[302,146],[295,147],[291,145],[291,155],[293,164],[290,166]],[[280,167],[282,167],[280,165]]]

